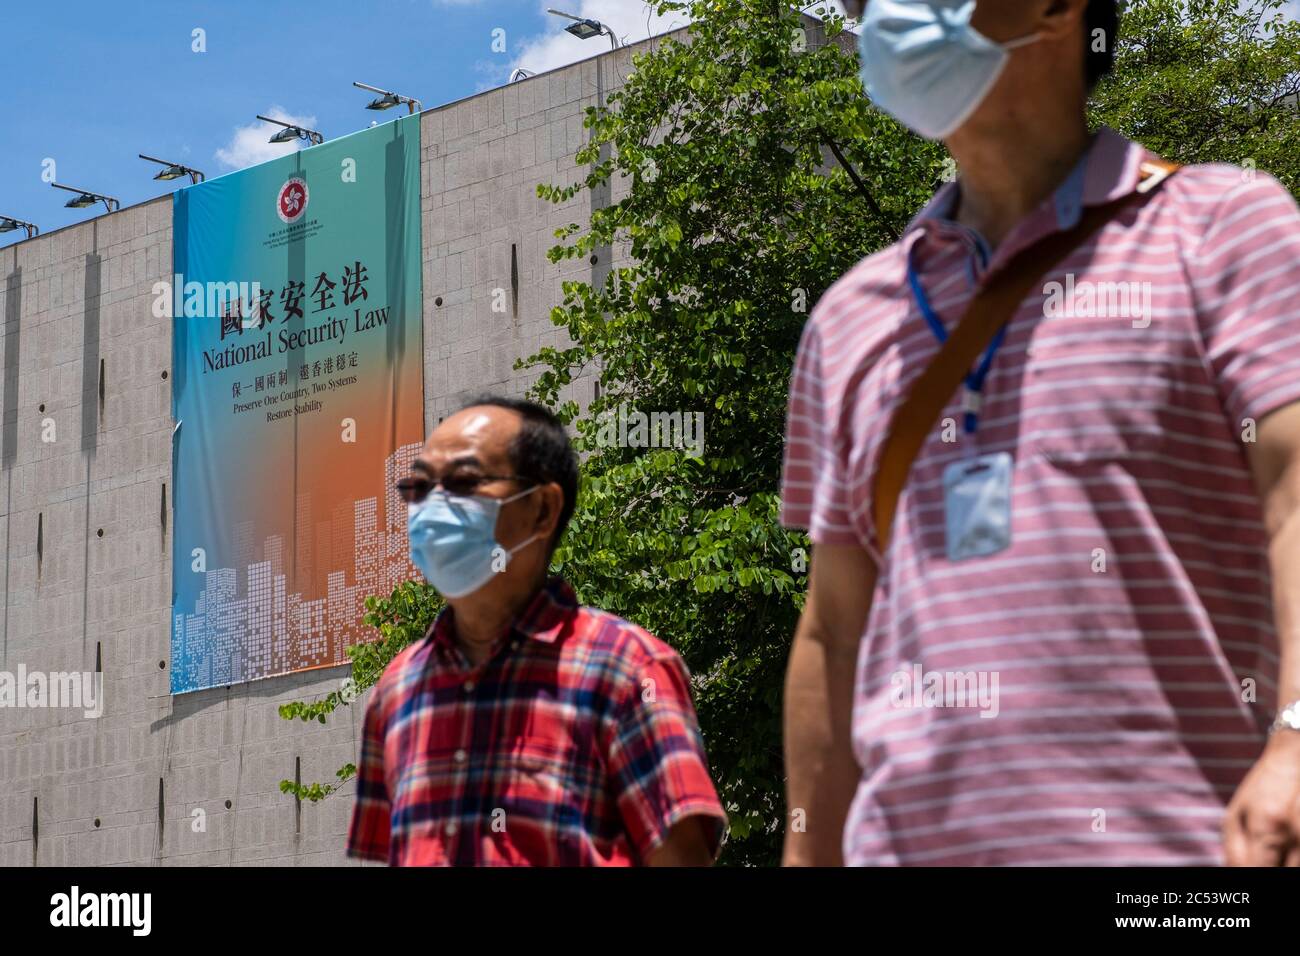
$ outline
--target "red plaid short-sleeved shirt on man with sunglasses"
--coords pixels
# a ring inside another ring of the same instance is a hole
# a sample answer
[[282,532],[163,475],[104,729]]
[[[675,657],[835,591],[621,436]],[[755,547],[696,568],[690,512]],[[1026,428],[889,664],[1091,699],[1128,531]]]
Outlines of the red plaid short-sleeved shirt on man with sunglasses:
[[552,579],[472,667],[447,609],[365,711],[348,856],[391,865],[633,865],[727,816],[685,665]]

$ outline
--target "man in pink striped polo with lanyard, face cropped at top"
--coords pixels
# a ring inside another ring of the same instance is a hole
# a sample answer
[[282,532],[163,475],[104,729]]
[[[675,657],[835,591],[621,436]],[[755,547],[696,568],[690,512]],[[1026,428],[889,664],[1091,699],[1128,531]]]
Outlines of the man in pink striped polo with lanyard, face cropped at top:
[[[870,0],[861,31],[876,105],[961,174],[800,345],[785,861],[1300,865],[1300,211],[1226,165],[1139,190],[1143,147],[1089,135],[1114,0]],[[881,546],[939,338],[1124,196],[954,389]]]

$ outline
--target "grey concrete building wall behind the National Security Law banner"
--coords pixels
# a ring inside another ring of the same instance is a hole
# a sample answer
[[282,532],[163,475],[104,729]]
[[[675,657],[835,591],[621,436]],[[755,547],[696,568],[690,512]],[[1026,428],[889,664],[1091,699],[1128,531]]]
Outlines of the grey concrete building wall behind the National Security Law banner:
[[[584,174],[582,109],[630,55],[424,113],[426,429],[468,394],[521,393],[536,372],[515,360],[567,341],[549,319],[560,282],[610,268],[607,252],[546,260],[592,200],[555,207],[537,183]],[[324,726],[276,713],[337,689],[346,667],[169,695],[172,325],[152,286],[170,273],[170,196],[0,250],[0,671],[99,661],[105,701],[98,719],[0,708],[0,865],[348,862],[351,786],[298,806],[280,780],[332,780],[355,760],[365,698]]]

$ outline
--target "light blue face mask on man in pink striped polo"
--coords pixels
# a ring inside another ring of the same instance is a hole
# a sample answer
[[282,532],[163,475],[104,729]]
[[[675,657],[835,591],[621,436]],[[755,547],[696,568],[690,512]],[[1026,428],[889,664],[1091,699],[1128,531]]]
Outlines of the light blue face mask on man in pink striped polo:
[[1037,34],[994,43],[971,26],[975,0],[871,0],[858,35],[871,100],[927,139],[942,139],[975,112],[1006,66],[1008,51]]

